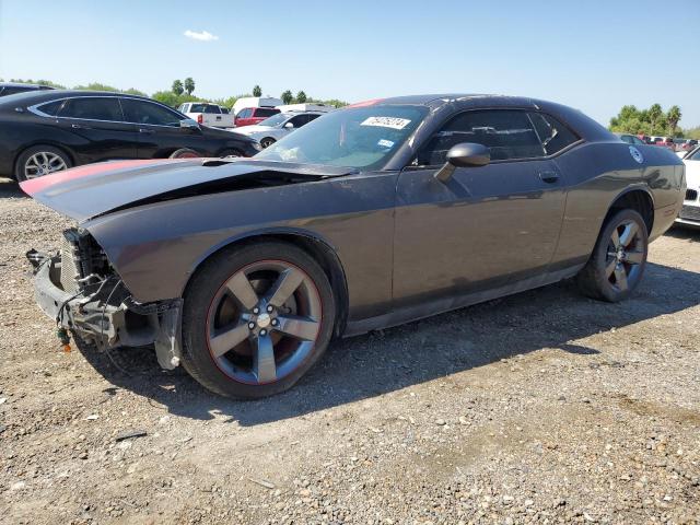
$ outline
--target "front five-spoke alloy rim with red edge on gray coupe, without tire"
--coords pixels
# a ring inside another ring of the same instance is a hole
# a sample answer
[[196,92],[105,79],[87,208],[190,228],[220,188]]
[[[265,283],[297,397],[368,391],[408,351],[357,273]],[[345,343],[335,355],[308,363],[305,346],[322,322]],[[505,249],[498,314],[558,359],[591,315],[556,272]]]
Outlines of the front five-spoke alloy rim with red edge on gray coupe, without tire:
[[310,355],[322,319],[308,275],[283,260],[259,261],[236,271],[215,293],[207,313],[207,345],[232,380],[273,383]]

